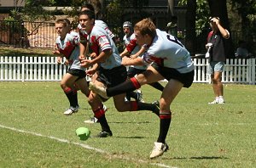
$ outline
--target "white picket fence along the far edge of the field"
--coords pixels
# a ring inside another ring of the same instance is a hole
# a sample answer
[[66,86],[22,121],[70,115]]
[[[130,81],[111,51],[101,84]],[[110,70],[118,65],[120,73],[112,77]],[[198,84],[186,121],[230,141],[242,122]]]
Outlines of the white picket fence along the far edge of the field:
[[[193,59],[194,82],[209,83],[208,59]],[[0,81],[61,81],[67,66],[55,57],[0,57]],[[88,78],[89,80],[90,78]],[[255,59],[226,59],[222,81],[255,84]]]

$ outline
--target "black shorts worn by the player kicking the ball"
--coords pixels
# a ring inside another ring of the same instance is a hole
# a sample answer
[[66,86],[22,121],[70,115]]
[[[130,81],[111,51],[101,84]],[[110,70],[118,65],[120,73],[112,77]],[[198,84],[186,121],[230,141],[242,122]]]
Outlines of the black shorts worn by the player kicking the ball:
[[176,69],[162,67],[155,63],[152,64],[152,66],[160,73],[161,76],[165,77],[167,81],[170,81],[171,79],[180,81],[183,83],[183,87],[190,87],[194,81],[194,70],[182,74]]

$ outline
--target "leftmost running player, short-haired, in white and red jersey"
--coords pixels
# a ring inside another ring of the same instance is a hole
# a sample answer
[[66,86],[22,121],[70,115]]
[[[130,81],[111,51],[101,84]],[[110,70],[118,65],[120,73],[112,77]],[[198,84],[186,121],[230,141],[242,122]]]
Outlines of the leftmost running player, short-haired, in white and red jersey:
[[58,36],[53,53],[58,55],[57,62],[59,64],[61,63],[62,57],[65,57],[69,64],[67,74],[61,80],[61,88],[70,103],[70,107],[64,112],[64,115],[72,115],[79,110],[78,94],[74,84],[85,96],[88,96],[90,93],[84,78],[86,76],[85,69],[80,66],[79,62],[79,34],[70,31],[67,20],[56,20],[55,30]]

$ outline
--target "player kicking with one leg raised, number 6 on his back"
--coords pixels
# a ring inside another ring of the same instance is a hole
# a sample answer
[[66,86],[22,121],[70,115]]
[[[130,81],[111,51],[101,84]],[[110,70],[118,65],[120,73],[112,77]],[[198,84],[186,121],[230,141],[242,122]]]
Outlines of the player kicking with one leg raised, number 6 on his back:
[[194,80],[194,64],[189,51],[175,36],[155,28],[152,20],[144,19],[134,27],[137,43],[147,45],[148,51],[143,58],[123,60],[125,65],[150,64],[148,69],[131,80],[116,87],[96,87],[90,83],[89,88],[102,97],[108,98],[122,92],[130,92],[144,84],[166,79],[168,82],[160,96],[160,133],[154,143],[154,149],[149,158],[154,159],[164,154],[168,149],[166,135],[172,120],[170,106],[178,92],[183,87],[190,87]]

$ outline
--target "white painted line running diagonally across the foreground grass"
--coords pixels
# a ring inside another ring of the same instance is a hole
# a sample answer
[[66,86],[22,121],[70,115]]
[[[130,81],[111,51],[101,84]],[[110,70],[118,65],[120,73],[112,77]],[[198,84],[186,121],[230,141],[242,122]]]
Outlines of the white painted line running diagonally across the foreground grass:
[[129,158],[129,157],[125,157],[125,156],[121,156],[121,155],[116,155],[116,154],[110,154],[102,149],[99,149],[99,148],[93,148],[93,147],[90,147],[89,145],[87,144],[84,144],[84,143],[74,143],[74,142],[71,142],[67,139],[61,139],[61,138],[58,138],[58,137],[52,137],[52,136],[44,136],[40,133],[36,133],[36,132],[26,132],[24,130],[19,130],[19,129],[16,129],[14,127],[9,127],[9,126],[3,126],[0,124],[0,127],[2,128],[5,128],[5,129],[9,129],[9,130],[12,130],[12,131],[15,131],[15,132],[22,132],[22,133],[27,133],[27,134],[31,134],[31,135],[34,135],[34,136],[38,136],[38,137],[48,137],[50,139],[54,139],[58,142],[61,142],[61,143],[71,143],[71,144],[74,144],[74,145],[78,145],[80,147],[83,147],[83,148],[87,148],[87,149],[90,149],[90,150],[94,150],[96,152],[99,152],[101,154],[108,154],[108,155],[112,155],[113,158],[116,158],[116,159],[122,159],[122,160],[134,160],[134,161],[137,161],[137,162],[140,162],[140,163],[146,163],[146,164],[150,164],[150,165],[157,165],[159,167],[166,167],[166,168],[177,168],[177,167],[172,167],[170,165],[165,165],[165,164],[161,164],[161,163],[148,163],[148,161],[146,160],[137,160],[135,158]]

